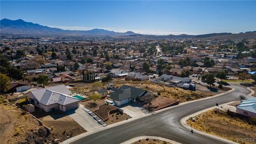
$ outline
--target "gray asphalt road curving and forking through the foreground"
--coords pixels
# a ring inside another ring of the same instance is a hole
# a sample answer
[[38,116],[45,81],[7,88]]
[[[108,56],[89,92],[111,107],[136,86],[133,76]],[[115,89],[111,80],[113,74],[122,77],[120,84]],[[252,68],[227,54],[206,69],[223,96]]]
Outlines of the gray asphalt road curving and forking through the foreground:
[[239,84],[232,84],[230,87],[233,87],[235,91],[220,97],[188,103],[187,105],[175,107],[162,111],[161,113],[111,127],[110,129],[87,135],[73,143],[122,143],[140,136],[162,137],[180,143],[223,143],[222,141],[205,137],[197,133],[190,133],[188,129],[181,125],[180,120],[197,111],[213,107],[215,106],[215,103],[221,104],[239,100],[239,95],[247,95],[250,93],[246,87]]

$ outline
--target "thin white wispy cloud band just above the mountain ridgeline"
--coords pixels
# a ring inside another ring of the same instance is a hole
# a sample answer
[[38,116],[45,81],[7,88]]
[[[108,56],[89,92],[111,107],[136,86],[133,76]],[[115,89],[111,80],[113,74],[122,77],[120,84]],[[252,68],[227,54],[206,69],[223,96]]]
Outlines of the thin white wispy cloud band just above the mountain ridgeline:
[[[48,26],[51,28],[61,28],[64,30],[91,30],[95,27],[81,27],[81,26]],[[97,27],[98,28],[98,27]],[[133,31],[134,33],[138,34],[146,34],[146,35],[180,35],[180,34],[187,34],[187,35],[198,35],[202,33],[195,33],[189,31],[175,31],[175,30],[160,30],[160,29],[126,29],[126,28],[111,28],[111,27],[100,27],[99,29],[106,29],[106,30],[113,30],[115,32],[124,33],[126,31]]]

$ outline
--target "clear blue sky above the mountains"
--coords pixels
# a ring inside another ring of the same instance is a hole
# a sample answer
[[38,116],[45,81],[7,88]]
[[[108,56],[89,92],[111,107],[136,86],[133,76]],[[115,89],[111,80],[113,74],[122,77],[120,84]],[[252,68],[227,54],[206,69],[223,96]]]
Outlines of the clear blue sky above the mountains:
[[140,34],[240,33],[256,30],[256,1],[2,1],[1,19],[71,30]]

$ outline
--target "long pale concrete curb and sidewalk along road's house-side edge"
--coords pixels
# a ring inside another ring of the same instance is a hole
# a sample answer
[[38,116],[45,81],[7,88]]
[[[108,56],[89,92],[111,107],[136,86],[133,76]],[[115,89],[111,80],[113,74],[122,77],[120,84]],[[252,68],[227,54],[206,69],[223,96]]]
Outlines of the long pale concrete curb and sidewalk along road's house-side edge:
[[196,101],[202,101],[202,100],[206,100],[206,99],[211,99],[211,98],[215,98],[215,97],[220,97],[220,96],[223,95],[223,94],[227,94],[227,93],[230,93],[230,92],[232,92],[232,91],[235,91],[235,89],[233,89],[233,88],[231,88],[231,89],[232,89],[232,90],[229,90],[229,91],[227,91],[227,92],[225,92],[225,93],[220,93],[220,94],[217,94],[217,95],[213,95],[212,97],[207,97],[207,98],[198,99],[198,100],[193,100],[193,101],[188,101],[188,102],[182,102],[182,103],[179,103],[179,105],[176,105],[176,106],[172,106],[172,107],[160,109],[160,110],[157,110],[157,111],[153,111],[153,112],[151,112],[150,114],[145,115],[145,116],[134,117],[134,118],[128,119],[127,121],[121,121],[121,122],[118,122],[118,123],[110,124],[110,125],[107,125],[107,126],[103,127],[103,129],[99,129],[99,130],[95,130],[95,131],[91,131],[91,132],[89,131],[89,132],[81,133],[81,134],[76,135],[75,137],[69,138],[69,139],[67,139],[67,140],[65,140],[65,141],[63,141],[63,142],[61,142],[61,143],[62,143],[62,144],[71,143],[71,142],[76,141],[77,139],[86,137],[87,135],[90,135],[90,134],[93,134],[93,133],[96,133],[96,132],[100,132],[100,131],[109,129],[109,128],[114,127],[114,126],[117,126],[117,125],[121,125],[121,124],[124,124],[124,123],[127,123],[127,122],[132,122],[132,121],[135,121],[135,120],[140,119],[140,118],[143,118],[143,117],[147,117],[147,116],[150,116],[150,115],[154,115],[154,114],[157,114],[157,113],[161,113],[162,111],[165,111],[165,110],[169,110],[169,109],[173,109],[173,108],[175,108],[175,107],[179,107],[179,106],[182,106],[182,105],[186,105],[186,104],[188,104],[188,103],[193,103],[193,102],[196,102]]

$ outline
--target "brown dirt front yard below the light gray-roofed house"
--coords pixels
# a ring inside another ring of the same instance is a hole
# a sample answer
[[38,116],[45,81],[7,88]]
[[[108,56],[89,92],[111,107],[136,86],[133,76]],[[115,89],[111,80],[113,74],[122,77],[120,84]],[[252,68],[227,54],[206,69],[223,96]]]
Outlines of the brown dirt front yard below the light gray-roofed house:
[[32,114],[43,121],[44,125],[51,128],[50,138],[52,139],[64,141],[69,137],[74,137],[75,135],[86,132],[73,118],[62,111],[56,110],[46,113],[36,109],[36,112]]

